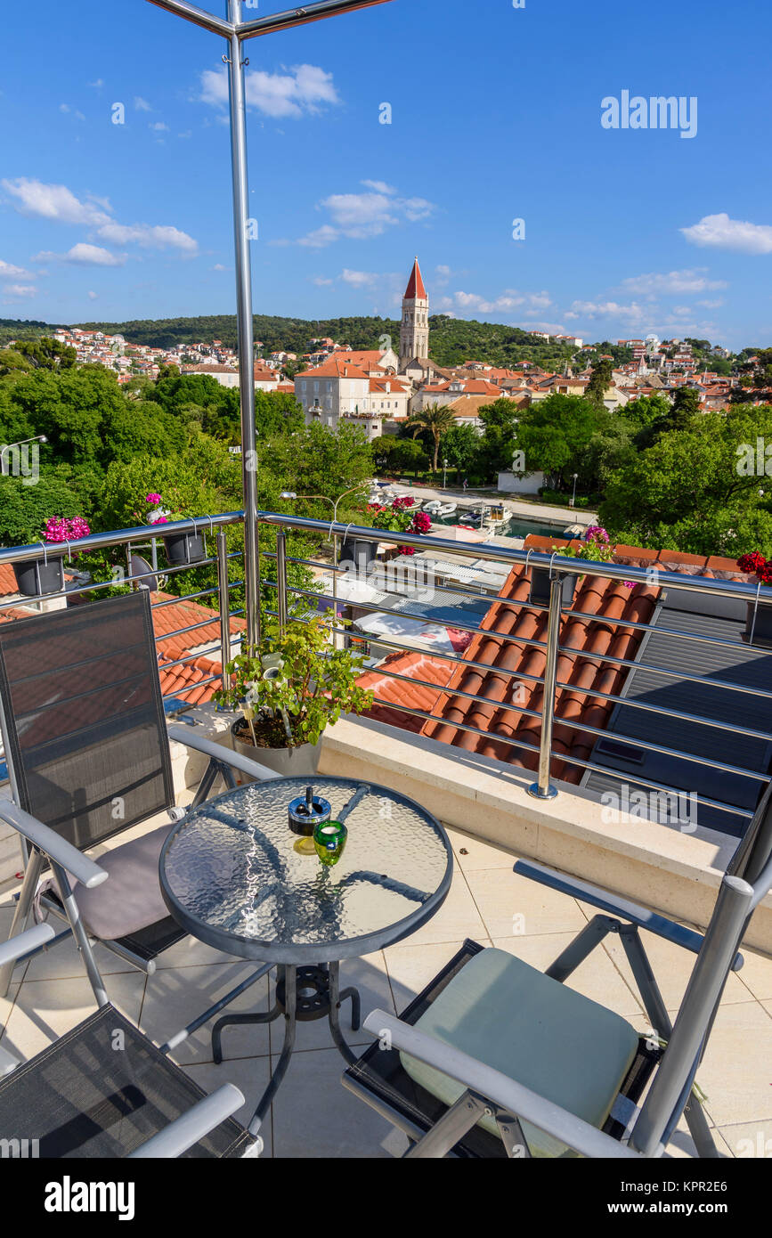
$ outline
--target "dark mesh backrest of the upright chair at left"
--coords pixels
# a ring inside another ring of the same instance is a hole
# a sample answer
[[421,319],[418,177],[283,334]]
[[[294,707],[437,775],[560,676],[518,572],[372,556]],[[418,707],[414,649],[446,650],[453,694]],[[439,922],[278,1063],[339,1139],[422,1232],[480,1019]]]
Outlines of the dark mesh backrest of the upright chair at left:
[[173,805],[147,591],[2,624],[0,695],[20,806],[75,847]]

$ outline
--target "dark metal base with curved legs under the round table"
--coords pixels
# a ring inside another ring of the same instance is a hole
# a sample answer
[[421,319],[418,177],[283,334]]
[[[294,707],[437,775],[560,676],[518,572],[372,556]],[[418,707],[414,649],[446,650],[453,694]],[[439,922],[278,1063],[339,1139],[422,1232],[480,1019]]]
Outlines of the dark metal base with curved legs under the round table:
[[340,1031],[340,1006],[349,999],[351,1002],[351,1030],[359,1031],[361,1016],[359,992],[355,988],[340,992],[339,963],[330,963],[329,967],[324,967],[323,964],[318,964],[317,967],[292,967],[285,964],[278,968],[276,1003],[266,1014],[229,1014],[223,1019],[218,1019],[212,1029],[212,1054],[215,1063],[219,1066],[223,1061],[224,1028],[273,1023],[275,1019],[281,1019],[282,1015],[285,1018],[285,1044],[271,1081],[252,1115],[249,1125],[250,1134],[257,1133],[262,1119],[273,1102],[278,1086],[287,1073],[292,1050],[294,1049],[294,1034],[298,1021],[306,1023],[327,1018],[333,1042],[346,1065],[350,1066],[356,1061],[356,1054],[351,1052]]

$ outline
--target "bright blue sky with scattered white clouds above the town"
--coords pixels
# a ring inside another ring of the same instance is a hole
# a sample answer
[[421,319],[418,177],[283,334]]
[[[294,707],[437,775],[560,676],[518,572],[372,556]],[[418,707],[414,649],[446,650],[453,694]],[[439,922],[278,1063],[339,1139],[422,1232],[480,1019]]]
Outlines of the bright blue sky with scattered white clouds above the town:
[[[146,0],[1,26],[0,317],[233,312],[223,41]],[[772,344],[771,33],[751,0],[392,0],[250,41],[256,312],[393,314],[418,254],[434,311]],[[624,90],[697,134],[604,128]]]

